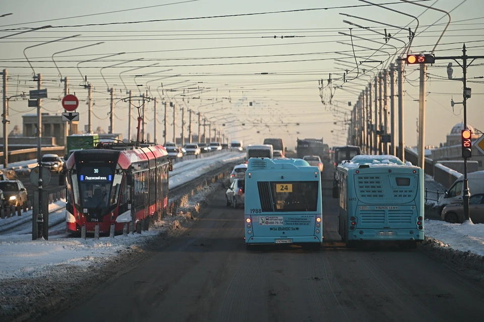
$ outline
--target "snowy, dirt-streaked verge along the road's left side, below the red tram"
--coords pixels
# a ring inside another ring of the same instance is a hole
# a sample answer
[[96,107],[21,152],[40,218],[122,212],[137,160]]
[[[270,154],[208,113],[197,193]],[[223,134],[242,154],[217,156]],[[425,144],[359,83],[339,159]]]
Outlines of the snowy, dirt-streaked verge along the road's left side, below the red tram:
[[68,305],[83,289],[138,265],[152,247],[191,225],[205,200],[218,189],[220,182],[204,187],[181,204],[177,213],[165,216],[141,235],[2,243],[10,259],[0,264],[7,269],[0,273],[0,320],[42,317]]

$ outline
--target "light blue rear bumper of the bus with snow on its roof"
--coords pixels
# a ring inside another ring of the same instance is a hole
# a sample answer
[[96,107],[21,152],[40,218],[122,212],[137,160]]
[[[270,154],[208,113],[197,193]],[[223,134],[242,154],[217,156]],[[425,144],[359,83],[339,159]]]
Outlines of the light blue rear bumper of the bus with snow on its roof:
[[379,241],[423,241],[423,231],[417,228],[398,229],[359,229],[348,231],[349,240],[379,240]]

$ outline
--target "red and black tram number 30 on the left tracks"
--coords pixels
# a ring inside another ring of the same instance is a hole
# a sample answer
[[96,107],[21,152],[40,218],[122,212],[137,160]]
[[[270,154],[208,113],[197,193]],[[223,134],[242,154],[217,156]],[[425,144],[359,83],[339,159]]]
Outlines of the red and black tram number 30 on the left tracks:
[[[67,160],[67,232],[116,233],[124,223],[137,225],[168,205],[168,171],[172,166],[162,145],[98,143]],[[148,220],[149,222],[149,220]],[[129,227],[131,228],[131,227]]]

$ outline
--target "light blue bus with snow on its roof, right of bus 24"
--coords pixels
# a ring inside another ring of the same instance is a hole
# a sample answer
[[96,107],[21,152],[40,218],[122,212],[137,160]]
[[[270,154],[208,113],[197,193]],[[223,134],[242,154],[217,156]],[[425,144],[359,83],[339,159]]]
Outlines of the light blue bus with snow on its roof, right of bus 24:
[[357,155],[336,169],[339,234],[348,247],[391,241],[416,248],[423,241],[423,171],[392,155]]

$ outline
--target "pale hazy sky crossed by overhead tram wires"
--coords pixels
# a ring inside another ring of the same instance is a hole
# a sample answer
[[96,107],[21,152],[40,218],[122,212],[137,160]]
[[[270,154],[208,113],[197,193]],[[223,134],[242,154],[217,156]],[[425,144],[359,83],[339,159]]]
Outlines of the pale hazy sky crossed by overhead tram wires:
[[[425,11],[401,0],[372,3],[392,3],[386,8],[398,12],[367,6],[368,3],[358,0],[243,3],[147,0],[142,4],[87,0],[69,6],[58,0],[8,1],[2,4],[0,16],[13,15],[0,17],[0,37],[28,30],[25,28],[46,25],[53,28],[1,39],[0,68],[7,68],[9,72],[8,97],[35,89],[32,75],[41,73],[42,86],[47,88],[49,97],[43,100],[42,109],[50,114],[62,112],[64,83],[60,79],[61,75],[68,77],[69,93],[80,100],[79,129],[87,124],[87,90],[83,87],[87,77],[94,88],[93,129],[101,126],[108,130],[110,95],[107,90],[113,88],[113,131],[123,133],[124,137],[128,135],[129,108],[123,99],[131,91],[132,96],[146,93],[151,99],[145,103],[146,132],[151,138],[155,122],[152,99],[157,99],[158,142],[163,142],[163,102],[167,102],[167,140],[172,140],[171,102],[175,107],[176,136],[180,135],[183,108],[186,134],[187,111],[192,110],[194,133],[198,131],[197,113],[200,113],[202,119],[211,122],[212,129],[222,130],[230,138],[241,139],[246,144],[262,143],[265,137],[281,137],[291,148],[297,137],[322,137],[326,143],[338,145],[346,141],[349,112],[358,94],[375,72],[396,62],[394,47],[398,53],[403,52],[401,48],[408,42],[407,29],[415,32],[410,52],[428,53],[448,22],[443,12]],[[418,4],[450,12],[451,24],[435,48],[436,57],[460,56],[463,42],[468,55],[484,56],[484,37],[480,31],[484,24],[482,1],[431,0]],[[255,15],[233,16],[241,14]],[[418,17],[418,26],[407,15]],[[140,23],[150,20],[158,21]],[[351,26],[343,20],[368,29]],[[391,35],[387,43],[382,35],[385,33]],[[79,36],[42,44],[75,35]],[[99,42],[103,43],[94,45]],[[37,44],[42,45],[27,48]],[[84,46],[89,47],[79,48]],[[24,49],[33,68],[24,57]],[[58,53],[66,50],[70,51]],[[54,53],[60,74],[52,62]],[[102,58],[116,53],[124,54]],[[359,62],[364,60],[377,62],[361,65]],[[462,102],[463,84],[447,79],[449,62],[454,65],[453,76],[462,77],[462,68],[451,60],[437,60],[427,70],[426,145],[444,142],[451,128],[463,120],[462,105],[451,107],[451,99]],[[76,68],[78,63],[80,72]],[[476,59],[467,69],[467,86],[472,89],[472,97],[467,100],[467,121],[481,131],[484,129],[480,109],[484,103],[484,81],[473,77],[484,75],[483,64],[484,59]],[[105,68],[101,71],[102,67]],[[343,78],[345,69],[348,73]],[[328,84],[330,74],[332,82]],[[405,66],[404,76],[405,143],[416,145],[418,66]],[[141,105],[140,99],[134,99],[133,104]],[[21,116],[25,113],[36,112],[27,107],[25,100],[12,98],[10,128],[21,126]],[[133,133],[136,115],[134,109]]]

